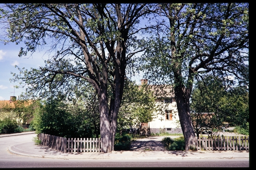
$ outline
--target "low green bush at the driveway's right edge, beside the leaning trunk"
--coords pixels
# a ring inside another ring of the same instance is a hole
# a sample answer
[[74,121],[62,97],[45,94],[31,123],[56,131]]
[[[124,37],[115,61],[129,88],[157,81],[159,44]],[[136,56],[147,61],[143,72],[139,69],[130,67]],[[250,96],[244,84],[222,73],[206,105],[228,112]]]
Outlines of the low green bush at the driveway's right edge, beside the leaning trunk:
[[171,139],[170,137],[165,137],[162,139],[162,143],[169,151],[185,150],[185,139],[183,136],[174,139]]

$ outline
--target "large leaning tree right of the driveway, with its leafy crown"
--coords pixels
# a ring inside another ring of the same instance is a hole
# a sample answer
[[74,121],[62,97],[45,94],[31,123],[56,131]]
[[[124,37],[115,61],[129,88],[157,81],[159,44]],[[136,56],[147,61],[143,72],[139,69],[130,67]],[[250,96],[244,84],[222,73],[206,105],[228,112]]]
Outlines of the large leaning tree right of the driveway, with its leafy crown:
[[248,3],[159,4],[159,9],[142,69],[151,81],[173,85],[189,150],[195,148],[189,107],[194,81],[210,73],[248,84]]

